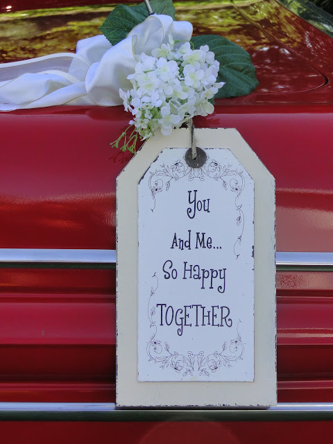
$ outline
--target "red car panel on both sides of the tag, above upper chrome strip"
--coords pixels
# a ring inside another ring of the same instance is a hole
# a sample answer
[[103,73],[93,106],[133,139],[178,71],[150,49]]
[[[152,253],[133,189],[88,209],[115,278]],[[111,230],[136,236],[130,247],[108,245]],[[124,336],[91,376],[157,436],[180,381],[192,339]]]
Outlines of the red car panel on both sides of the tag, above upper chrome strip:
[[[127,119],[120,107],[1,115],[3,248],[115,248],[114,179],[131,155],[109,144]],[[275,176],[280,251],[333,251],[332,122],[333,107],[291,104],[216,105],[196,119],[237,128]]]

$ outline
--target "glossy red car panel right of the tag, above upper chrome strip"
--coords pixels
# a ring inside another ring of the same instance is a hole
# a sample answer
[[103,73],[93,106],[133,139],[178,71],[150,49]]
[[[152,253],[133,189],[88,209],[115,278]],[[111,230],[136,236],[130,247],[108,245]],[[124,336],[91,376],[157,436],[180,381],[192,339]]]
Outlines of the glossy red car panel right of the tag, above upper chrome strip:
[[197,126],[239,130],[275,176],[279,251],[333,251],[333,106],[216,106]]

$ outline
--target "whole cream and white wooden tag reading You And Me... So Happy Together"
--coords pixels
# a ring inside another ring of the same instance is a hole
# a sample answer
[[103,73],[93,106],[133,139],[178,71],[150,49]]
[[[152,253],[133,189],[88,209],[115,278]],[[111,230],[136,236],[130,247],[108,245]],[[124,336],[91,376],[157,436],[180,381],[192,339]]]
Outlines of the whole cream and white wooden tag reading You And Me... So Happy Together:
[[276,402],[274,179],[237,130],[148,141],[117,180],[117,405]]

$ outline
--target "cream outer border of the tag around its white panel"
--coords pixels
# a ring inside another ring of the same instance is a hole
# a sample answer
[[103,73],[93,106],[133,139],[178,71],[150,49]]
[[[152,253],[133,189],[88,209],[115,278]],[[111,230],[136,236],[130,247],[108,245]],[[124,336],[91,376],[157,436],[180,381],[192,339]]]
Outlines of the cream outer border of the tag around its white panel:
[[[229,150],[242,165],[242,171],[247,171],[255,182],[254,380],[241,381],[240,379],[245,379],[242,373],[237,382],[138,381],[137,276],[141,262],[138,260],[137,187],[162,148],[190,146],[189,130],[180,129],[171,137],[160,136],[157,140],[148,141],[117,180],[117,405],[119,406],[268,406],[276,403],[274,179],[237,130],[196,129],[195,131],[197,146]],[[159,205],[162,202],[159,200],[160,196],[155,198],[156,205]],[[171,210],[170,207],[169,211]],[[178,224],[175,224],[175,230],[178,230]],[[162,232],[160,236],[167,242],[168,239]],[[203,260],[206,260],[206,257],[203,257]],[[216,263],[215,261],[216,258],[213,262]],[[140,322],[141,319],[140,315]],[[247,347],[245,336],[242,335],[242,339]],[[249,368],[248,361],[246,371]]]

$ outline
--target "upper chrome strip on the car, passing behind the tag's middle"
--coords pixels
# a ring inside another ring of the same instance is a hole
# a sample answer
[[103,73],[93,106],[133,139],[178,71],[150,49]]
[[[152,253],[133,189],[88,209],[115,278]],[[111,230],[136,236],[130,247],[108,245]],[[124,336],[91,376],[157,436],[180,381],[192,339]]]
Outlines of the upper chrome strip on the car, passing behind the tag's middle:
[[[21,264],[36,266],[38,264],[58,264],[63,266],[110,266],[116,263],[116,250],[88,249],[43,249],[43,248],[0,248],[1,264]],[[299,268],[332,268],[333,253],[302,253],[278,251],[276,253],[276,268],[278,271]]]

